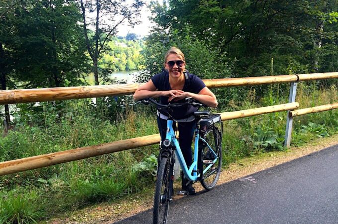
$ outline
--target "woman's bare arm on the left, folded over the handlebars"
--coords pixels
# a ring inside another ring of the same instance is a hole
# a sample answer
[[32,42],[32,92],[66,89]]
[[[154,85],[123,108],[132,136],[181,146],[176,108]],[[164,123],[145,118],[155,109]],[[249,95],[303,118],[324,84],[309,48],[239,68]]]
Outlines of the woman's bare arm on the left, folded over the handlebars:
[[168,90],[168,91],[158,91],[152,80],[149,80],[146,84],[140,86],[135,91],[133,97],[135,101],[141,100],[147,97],[160,97],[160,96],[174,96],[183,93],[182,90]]

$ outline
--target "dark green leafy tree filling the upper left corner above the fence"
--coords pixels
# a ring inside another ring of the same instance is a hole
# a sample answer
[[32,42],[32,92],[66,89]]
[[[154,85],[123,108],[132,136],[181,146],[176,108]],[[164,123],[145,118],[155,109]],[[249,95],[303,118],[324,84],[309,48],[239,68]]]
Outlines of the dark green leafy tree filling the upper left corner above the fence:
[[[0,2],[1,89],[79,83],[87,58],[74,0]],[[5,119],[10,122],[8,105]]]

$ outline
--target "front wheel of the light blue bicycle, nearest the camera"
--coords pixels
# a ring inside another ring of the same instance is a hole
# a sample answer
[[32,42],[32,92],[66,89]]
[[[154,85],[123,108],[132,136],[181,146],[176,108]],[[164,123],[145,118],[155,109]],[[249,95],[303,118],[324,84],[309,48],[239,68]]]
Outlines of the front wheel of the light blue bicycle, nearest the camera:
[[167,158],[163,157],[161,158],[156,178],[153,224],[165,224],[167,222],[169,191],[169,167]]

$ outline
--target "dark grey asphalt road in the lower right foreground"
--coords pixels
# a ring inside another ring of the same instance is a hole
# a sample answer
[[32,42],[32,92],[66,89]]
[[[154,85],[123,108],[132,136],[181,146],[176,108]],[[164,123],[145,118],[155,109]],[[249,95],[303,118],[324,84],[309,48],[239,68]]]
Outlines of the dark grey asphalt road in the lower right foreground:
[[[175,200],[169,224],[338,224],[338,145]],[[150,224],[146,211],[117,224]]]

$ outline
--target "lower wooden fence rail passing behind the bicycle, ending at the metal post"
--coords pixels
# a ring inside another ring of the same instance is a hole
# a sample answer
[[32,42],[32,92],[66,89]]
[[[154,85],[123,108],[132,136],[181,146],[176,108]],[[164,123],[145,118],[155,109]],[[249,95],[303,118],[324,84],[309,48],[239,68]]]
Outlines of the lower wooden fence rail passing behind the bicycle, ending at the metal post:
[[[293,110],[299,107],[297,102],[280,104],[268,107],[254,108],[242,111],[221,113],[222,120],[249,117],[254,115],[266,114],[271,112],[279,112]],[[61,152],[49,153],[45,155],[33,156],[28,158],[16,159],[0,163],[0,176],[18,173],[21,171],[47,167],[60,163],[66,163],[79,159],[89,158],[93,156],[108,154],[112,152],[123,151],[127,149],[142,147],[151,144],[157,144],[160,141],[159,134],[153,134],[138,138],[126,139],[121,141],[110,142],[101,145],[88,146],[83,148],[71,149]]]

